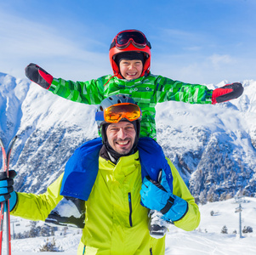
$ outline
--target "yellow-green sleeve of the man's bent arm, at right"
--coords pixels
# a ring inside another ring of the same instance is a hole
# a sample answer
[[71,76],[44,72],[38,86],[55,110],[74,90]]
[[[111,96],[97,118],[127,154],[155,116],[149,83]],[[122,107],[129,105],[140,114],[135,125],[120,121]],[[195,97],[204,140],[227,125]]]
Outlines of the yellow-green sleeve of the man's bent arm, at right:
[[185,182],[180,177],[178,170],[174,167],[174,164],[168,159],[168,164],[170,165],[174,177],[173,181],[173,193],[187,201],[188,211],[185,216],[178,221],[174,222],[174,225],[179,229],[184,229],[186,231],[194,230],[200,224],[200,212],[196,205],[194,197],[191,195],[190,190],[187,188]]

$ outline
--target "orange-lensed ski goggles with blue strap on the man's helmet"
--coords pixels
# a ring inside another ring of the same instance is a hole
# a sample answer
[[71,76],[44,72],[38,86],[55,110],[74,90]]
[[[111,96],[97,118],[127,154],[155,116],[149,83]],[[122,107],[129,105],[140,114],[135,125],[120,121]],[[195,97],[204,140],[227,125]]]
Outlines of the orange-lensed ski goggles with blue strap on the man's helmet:
[[134,122],[141,116],[141,111],[138,105],[131,103],[122,103],[111,105],[105,108],[104,111],[97,111],[95,114],[96,121],[105,121],[108,123],[117,123],[122,118],[128,119],[129,122]]

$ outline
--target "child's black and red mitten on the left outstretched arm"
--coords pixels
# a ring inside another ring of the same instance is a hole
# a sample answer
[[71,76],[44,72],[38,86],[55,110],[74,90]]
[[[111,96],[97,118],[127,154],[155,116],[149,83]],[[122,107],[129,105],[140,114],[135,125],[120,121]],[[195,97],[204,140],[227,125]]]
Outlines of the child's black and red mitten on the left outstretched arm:
[[25,74],[32,82],[37,83],[45,89],[50,88],[54,79],[47,71],[44,71],[43,68],[33,63],[26,66]]

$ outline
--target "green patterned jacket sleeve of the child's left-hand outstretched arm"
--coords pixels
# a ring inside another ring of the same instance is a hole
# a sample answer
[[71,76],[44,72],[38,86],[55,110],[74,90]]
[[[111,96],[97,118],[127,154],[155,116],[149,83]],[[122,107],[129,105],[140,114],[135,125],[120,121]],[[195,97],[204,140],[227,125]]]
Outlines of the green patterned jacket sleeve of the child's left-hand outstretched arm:
[[49,91],[73,102],[99,105],[104,99],[104,84],[110,76],[87,82],[72,82],[54,78]]

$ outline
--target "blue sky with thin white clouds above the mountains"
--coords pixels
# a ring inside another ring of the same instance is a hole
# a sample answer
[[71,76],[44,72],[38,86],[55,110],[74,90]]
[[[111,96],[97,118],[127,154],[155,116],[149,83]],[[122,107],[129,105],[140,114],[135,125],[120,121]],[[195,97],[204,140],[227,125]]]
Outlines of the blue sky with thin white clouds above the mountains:
[[132,28],[151,42],[153,74],[256,80],[255,0],[0,0],[0,72],[24,78],[33,62],[75,81],[110,74],[111,40]]

